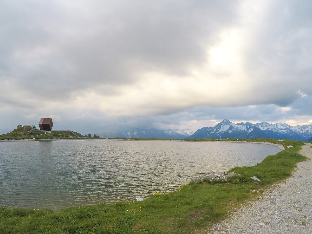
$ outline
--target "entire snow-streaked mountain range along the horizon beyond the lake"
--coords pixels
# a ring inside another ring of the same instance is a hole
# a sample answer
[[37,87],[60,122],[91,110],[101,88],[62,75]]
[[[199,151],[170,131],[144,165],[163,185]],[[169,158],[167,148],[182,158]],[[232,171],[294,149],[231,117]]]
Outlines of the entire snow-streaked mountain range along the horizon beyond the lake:
[[234,124],[224,119],[214,127],[203,127],[196,132],[191,129],[185,130],[161,130],[161,129],[140,129],[131,128],[122,131],[106,132],[98,134],[104,138],[169,138],[169,139],[254,139],[254,138],[274,138],[292,139],[312,142],[312,124],[297,125],[295,127],[288,124],[276,123],[269,124],[261,122],[251,124],[241,122]]

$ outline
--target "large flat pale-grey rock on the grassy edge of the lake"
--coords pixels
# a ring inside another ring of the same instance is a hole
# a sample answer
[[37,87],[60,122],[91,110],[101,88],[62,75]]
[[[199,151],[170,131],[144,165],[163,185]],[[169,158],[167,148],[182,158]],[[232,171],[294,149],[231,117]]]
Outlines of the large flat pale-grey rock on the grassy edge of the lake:
[[226,182],[233,176],[241,176],[235,172],[204,172],[196,174],[195,178],[192,179],[193,183],[199,183],[201,181],[207,182]]

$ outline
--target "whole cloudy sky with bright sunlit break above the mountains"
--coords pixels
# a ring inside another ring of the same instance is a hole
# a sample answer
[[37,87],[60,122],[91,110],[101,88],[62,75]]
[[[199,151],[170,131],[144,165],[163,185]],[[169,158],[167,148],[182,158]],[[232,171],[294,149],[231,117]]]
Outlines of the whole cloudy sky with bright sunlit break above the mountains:
[[310,0],[0,0],[0,134],[312,124]]

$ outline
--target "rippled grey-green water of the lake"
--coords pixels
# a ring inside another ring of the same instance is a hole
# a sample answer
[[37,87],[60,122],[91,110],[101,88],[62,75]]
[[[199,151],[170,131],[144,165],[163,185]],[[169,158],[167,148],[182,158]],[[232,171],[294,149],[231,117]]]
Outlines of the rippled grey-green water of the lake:
[[189,141],[0,142],[0,206],[60,209],[168,193],[196,173],[255,165],[267,144]]

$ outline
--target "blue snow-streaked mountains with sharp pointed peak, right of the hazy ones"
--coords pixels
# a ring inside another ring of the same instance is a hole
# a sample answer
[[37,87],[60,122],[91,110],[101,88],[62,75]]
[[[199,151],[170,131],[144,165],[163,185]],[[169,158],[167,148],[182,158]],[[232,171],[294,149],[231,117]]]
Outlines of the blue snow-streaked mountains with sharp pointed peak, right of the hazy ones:
[[198,129],[193,135],[186,137],[192,138],[212,138],[212,139],[225,139],[225,138],[275,138],[275,139],[293,139],[293,140],[307,140],[312,137],[312,124],[310,125],[297,125],[295,127],[288,124],[276,123],[269,124],[261,122],[256,124],[251,123],[237,123],[224,119],[213,128],[203,127]]

